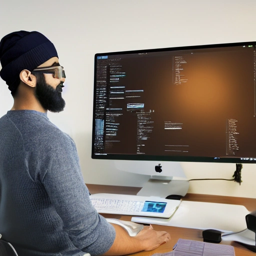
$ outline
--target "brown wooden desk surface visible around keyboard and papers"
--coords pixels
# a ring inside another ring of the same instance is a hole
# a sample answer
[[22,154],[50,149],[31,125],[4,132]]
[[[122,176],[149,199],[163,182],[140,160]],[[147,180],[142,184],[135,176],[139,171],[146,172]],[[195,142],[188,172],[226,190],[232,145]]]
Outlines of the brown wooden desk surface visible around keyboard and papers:
[[[108,185],[94,185],[86,184],[90,193],[121,193],[121,194],[136,194],[139,191],[139,187],[127,187],[127,186],[108,186]],[[183,197],[183,200],[189,201],[202,201],[202,202],[217,202],[217,203],[229,203],[229,204],[241,204],[244,205],[249,211],[256,209],[256,198],[244,198],[244,197],[232,197],[232,196],[220,196],[220,195],[205,195],[205,194],[192,194],[188,193]],[[102,214],[104,217],[119,218],[122,220],[130,220],[131,216],[124,215],[112,215]],[[245,217],[245,216],[244,216]],[[174,226],[161,226],[153,225],[155,230],[165,230],[170,233],[171,240],[160,245],[158,248],[151,251],[141,251],[132,254],[133,256],[150,256],[154,253],[171,251],[173,245],[179,238],[202,241],[202,230],[192,228],[182,228]],[[222,244],[230,244],[234,246],[236,256],[256,256],[255,252],[250,251],[237,242],[222,241]]]

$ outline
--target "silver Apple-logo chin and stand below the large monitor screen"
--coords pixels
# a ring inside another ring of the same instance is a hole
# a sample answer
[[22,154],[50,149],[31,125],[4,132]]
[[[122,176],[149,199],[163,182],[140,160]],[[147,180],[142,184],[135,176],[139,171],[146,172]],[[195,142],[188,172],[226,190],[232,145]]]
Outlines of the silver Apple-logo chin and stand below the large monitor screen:
[[114,160],[115,168],[148,177],[137,195],[180,199],[187,193],[189,181],[174,161]]

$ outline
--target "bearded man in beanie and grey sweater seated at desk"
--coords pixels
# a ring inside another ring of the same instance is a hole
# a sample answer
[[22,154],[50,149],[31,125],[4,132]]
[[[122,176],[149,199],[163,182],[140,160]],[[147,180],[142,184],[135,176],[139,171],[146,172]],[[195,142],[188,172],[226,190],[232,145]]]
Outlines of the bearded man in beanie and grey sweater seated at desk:
[[0,61],[14,99],[0,118],[0,233],[18,255],[124,255],[167,242],[151,226],[130,237],[91,205],[73,140],[47,118],[65,105],[54,45],[36,31],[12,32]]

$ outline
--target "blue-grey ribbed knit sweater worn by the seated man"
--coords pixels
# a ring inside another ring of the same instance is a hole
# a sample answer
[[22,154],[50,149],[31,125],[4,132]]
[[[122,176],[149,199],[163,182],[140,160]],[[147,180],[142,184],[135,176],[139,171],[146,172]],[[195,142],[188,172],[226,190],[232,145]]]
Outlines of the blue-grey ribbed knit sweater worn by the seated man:
[[114,228],[90,203],[73,140],[45,113],[0,118],[0,233],[19,256],[99,255]]

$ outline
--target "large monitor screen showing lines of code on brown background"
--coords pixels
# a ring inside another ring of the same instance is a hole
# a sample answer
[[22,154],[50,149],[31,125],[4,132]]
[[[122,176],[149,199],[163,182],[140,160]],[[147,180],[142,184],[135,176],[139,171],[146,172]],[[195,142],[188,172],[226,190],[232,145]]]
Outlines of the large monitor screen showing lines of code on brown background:
[[256,162],[255,45],[95,54],[92,158]]

